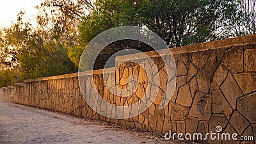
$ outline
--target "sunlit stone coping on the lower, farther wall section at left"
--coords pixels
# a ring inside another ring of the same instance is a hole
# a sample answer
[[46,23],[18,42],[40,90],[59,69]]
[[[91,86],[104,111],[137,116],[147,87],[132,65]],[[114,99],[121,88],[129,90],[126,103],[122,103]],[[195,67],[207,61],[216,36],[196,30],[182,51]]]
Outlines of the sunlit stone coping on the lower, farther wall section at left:
[[106,68],[106,69],[100,69],[100,70],[90,70],[90,71],[86,71],[86,72],[77,72],[77,73],[74,73],[74,74],[65,74],[65,75],[60,75],[60,76],[52,76],[52,77],[42,77],[42,78],[38,78],[38,79],[28,79],[28,80],[25,80],[24,83],[30,83],[30,82],[33,82],[33,81],[47,81],[47,80],[51,80],[51,79],[65,79],[65,78],[70,78],[70,77],[78,77],[78,74],[79,76],[86,76],[86,75],[90,75],[92,74],[103,74],[106,73],[106,74],[109,74],[109,73],[112,73],[113,70],[115,70],[115,67],[112,67],[112,68]]

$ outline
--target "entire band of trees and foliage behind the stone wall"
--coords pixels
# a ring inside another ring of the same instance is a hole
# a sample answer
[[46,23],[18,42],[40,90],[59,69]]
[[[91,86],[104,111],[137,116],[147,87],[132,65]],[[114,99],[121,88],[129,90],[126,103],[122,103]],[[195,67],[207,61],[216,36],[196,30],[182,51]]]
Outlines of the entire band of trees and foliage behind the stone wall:
[[[90,40],[117,26],[150,29],[169,47],[256,33],[253,0],[44,0],[36,8],[38,28],[23,22],[20,12],[16,24],[1,29],[0,67],[18,66],[24,79],[76,72]],[[131,47],[152,50],[127,40],[108,45],[100,54]]]

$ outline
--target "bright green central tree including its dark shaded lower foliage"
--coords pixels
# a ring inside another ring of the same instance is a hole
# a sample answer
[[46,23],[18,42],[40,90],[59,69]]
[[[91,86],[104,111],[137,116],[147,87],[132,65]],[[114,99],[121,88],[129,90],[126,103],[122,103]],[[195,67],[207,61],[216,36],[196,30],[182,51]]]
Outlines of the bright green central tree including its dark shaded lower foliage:
[[[142,26],[141,22],[136,20],[136,3],[127,0],[99,0],[96,1],[97,9],[90,15],[83,17],[79,26],[78,43],[76,47],[68,49],[68,56],[78,66],[81,54],[86,45],[97,35],[117,26]],[[95,69],[103,68],[104,62],[117,51],[122,49],[138,49],[140,51],[153,51],[152,47],[142,42],[132,40],[122,40],[108,45],[95,63]],[[104,61],[104,62],[102,62]]]

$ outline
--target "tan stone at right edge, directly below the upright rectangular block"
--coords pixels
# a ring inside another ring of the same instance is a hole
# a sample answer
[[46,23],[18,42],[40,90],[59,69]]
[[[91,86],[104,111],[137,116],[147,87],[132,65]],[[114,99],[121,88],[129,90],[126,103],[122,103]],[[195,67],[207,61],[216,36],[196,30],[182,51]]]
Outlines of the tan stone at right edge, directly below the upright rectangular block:
[[243,73],[234,75],[244,95],[256,91],[256,73]]

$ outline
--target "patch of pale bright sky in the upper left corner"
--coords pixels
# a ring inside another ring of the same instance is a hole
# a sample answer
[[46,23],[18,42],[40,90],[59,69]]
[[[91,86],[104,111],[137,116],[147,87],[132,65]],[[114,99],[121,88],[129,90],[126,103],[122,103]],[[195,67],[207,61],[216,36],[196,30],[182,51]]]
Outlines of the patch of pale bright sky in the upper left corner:
[[16,22],[20,10],[25,10],[26,18],[35,24],[35,17],[33,17],[37,13],[35,6],[40,3],[41,0],[1,0],[0,27],[11,26],[12,22]]

